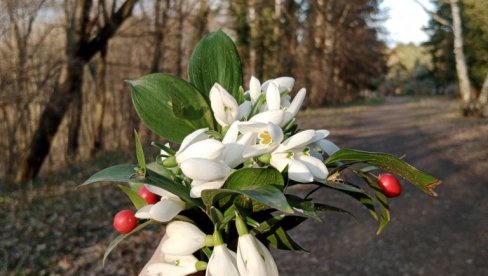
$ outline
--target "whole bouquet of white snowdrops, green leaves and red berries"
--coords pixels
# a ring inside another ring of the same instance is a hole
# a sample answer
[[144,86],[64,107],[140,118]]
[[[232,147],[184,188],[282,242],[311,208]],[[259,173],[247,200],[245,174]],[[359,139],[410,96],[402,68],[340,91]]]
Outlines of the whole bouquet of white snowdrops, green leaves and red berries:
[[[151,74],[128,81],[135,109],[146,126],[172,143],[147,163],[135,133],[138,165],[117,165],[90,177],[119,185],[136,212],[123,210],[114,219],[125,237],[149,224],[166,225],[160,262],[149,275],[278,275],[268,247],[303,250],[288,231],[319,212],[340,208],[312,198],[319,189],[343,192],[364,205],[379,221],[378,234],[390,220],[387,197],[400,194],[396,174],[429,195],[440,184],[389,154],[340,149],[327,140],[329,131],[300,129],[295,121],[306,90],[291,97],[294,79],[261,83],[252,77],[242,88],[239,55],[221,31],[206,36],[189,63],[189,80]],[[354,165],[354,166],[353,166]],[[364,180],[348,182],[349,171]],[[304,185],[305,197],[291,194]],[[305,186],[306,185],[306,186]]]

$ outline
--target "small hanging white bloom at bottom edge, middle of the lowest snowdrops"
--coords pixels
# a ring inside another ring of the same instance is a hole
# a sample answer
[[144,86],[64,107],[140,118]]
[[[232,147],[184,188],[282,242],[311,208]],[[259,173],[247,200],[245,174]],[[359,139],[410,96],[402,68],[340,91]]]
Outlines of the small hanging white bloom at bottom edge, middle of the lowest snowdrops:
[[214,247],[207,265],[206,276],[240,276],[237,270],[236,257],[230,253],[225,244]]

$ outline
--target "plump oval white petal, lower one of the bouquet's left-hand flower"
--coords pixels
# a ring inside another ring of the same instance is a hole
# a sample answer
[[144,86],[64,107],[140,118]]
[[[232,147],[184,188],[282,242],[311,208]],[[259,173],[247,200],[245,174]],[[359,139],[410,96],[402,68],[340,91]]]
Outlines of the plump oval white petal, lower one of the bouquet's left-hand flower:
[[187,177],[204,181],[222,179],[230,173],[225,163],[202,158],[187,159],[180,167]]

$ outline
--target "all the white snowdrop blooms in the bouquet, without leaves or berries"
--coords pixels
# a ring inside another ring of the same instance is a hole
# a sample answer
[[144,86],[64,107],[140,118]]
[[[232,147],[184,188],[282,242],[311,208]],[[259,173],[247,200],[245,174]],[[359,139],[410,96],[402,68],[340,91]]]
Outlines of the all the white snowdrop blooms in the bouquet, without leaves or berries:
[[[250,89],[243,95],[246,100],[240,105],[221,85],[212,87],[210,105],[222,138],[206,128],[198,129],[185,137],[172,157],[182,177],[191,183],[191,197],[221,188],[231,173],[243,167],[286,169],[288,178],[300,183],[326,180],[324,156],[339,148],[326,139],[327,130],[292,130],[306,95],[302,88],[291,100],[294,82],[291,77],[280,77],[261,85],[252,77]],[[169,156],[165,151],[162,154]],[[136,217],[169,222],[185,209],[185,202],[176,195],[151,185],[146,188],[161,200],[141,208]],[[268,249],[244,226],[238,230],[237,252],[233,252],[219,237],[207,237],[191,223],[172,221],[162,241],[163,261],[150,265],[147,272],[188,275],[206,268],[208,276],[278,275]],[[213,246],[208,264],[192,255],[204,246]]]

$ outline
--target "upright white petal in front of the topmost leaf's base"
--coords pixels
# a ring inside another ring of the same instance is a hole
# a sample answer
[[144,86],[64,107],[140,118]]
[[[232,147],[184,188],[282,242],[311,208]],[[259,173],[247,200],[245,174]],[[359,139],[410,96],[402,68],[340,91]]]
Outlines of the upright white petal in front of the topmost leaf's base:
[[215,83],[210,89],[209,98],[215,120],[219,125],[226,127],[237,119],[237,101],[220,84]]

